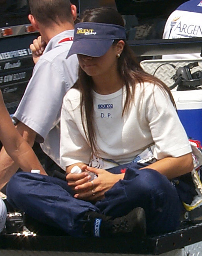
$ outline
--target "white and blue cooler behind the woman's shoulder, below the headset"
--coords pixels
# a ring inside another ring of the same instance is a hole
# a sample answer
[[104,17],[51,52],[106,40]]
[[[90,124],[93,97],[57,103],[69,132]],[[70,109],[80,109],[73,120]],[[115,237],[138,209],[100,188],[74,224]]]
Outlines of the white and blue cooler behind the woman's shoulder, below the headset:
[[202,90],[172,91],[187,135],[202,142]]

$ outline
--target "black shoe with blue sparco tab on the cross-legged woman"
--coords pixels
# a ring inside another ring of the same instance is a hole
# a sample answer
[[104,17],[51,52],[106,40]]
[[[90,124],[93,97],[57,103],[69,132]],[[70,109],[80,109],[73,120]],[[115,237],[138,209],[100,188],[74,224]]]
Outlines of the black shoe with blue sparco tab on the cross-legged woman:
[[138,207],[127,215],[115,219],[97,212],[87,212],[83,231],[85,235],[94,237],[115,237],[126,234],[143,237],[146,235],[145,212],[143,208]]

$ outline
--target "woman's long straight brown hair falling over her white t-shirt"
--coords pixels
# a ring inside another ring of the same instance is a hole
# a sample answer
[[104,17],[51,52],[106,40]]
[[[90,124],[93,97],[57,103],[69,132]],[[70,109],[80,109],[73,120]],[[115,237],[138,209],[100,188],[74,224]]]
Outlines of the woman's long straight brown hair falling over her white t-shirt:
[[[82,13],[81,21],[116,24],[124,27],[124,20],[120,13],[110,7],[87,9]],[[119,40],[115,40],[113,45],[117,44],[118,41]],[[162,90],[167,91],[173,105],[175,106],[170,89],[158,78],[144,72],[138,63],[136,56],[126,42],[122,54],[118,59],[118,73],[126,86],[126,100],[122,115],[124,115],[124,113],[130,108],[130,103],[133,102],[134,99],[136,84],[138,83],[144,86],[144,82],[149,82],[159,86]],[[88,139],[88,143],[90,144],[93,153],[96,155],[98,148],[96,145],[96,132],[93,119],[93,79],[81,68],[79,69],[77,86],[81,91],[80,108],[82,125]],[[130,88],[132,88],[132,90]]]

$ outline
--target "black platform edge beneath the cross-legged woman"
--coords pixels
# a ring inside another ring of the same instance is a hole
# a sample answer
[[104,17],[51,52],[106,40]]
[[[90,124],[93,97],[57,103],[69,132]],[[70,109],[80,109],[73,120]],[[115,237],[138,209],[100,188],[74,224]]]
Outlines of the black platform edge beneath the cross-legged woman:
[[[189,223],[189,222],[188,222]],[[175,232],[147,236],[115,238],[74,238],[40,236],[30,232],[0,235],[1,256],[48,255],[202,255],[202,222],[184,224]]]

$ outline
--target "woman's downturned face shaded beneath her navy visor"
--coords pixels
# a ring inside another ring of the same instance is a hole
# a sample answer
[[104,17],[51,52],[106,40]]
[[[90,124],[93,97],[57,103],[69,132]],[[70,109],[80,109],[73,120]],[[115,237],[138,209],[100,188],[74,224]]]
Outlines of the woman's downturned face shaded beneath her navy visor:
[[77,54],[77,56],[83,71],[87,75],[95,77],[110,74],[113,70],[117,71],[117,55],[121,52],[122,50],[117,44],[115,46],[112,45],[101,57],[89,57],[81,54]]

